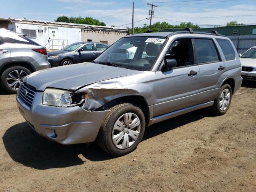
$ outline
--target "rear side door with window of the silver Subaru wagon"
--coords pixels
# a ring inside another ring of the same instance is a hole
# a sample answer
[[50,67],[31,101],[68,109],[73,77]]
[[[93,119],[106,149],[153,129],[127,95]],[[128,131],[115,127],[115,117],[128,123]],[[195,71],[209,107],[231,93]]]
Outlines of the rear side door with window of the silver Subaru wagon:
[[212,38],[194,38],[196,64],[200,69],[200,84],[197,103],[216,98],[220,82],[226,78],[225,64]]

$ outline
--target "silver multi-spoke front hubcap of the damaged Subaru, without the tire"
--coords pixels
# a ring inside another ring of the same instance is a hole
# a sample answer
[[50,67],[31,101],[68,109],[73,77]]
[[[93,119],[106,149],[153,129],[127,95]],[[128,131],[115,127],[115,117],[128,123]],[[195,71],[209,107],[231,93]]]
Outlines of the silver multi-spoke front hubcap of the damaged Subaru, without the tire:
[[118,118],[112,130],[112,141],[119,149],[132,146],[140,134],[140,119],[134,113],[126,113]]

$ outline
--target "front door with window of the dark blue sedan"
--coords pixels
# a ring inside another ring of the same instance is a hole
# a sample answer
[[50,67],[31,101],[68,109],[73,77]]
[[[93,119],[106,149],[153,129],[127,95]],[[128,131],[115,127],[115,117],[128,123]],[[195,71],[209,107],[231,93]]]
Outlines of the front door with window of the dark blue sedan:
[[76,51],[76,63],[93,61],[97,57],[94,47],[94,43],[88,43],[81,47],[83,51]]

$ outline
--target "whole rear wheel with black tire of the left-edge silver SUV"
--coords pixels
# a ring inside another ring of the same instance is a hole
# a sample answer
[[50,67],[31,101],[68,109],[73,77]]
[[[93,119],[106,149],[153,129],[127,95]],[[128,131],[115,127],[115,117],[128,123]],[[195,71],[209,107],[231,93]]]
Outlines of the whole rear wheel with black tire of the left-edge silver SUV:
[[2,73],[1,85],[7,92],[15,94],[20,84],[23,82],[24,77],[29,74],[31,74],[31,71],[22,66],[7,68]]

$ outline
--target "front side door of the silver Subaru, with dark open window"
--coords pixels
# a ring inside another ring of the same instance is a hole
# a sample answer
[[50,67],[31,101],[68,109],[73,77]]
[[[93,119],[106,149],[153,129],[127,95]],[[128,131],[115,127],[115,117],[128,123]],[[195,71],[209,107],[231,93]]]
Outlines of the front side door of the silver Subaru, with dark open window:
[[[176,50],[175,54],[172,50]],[[197,102],[200,71],[194,64],[192,40],[176,40],[165,57],[176,59],[177,66],[156,72],[153,117],[193,106]]]

